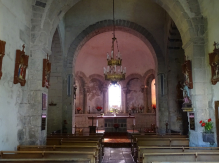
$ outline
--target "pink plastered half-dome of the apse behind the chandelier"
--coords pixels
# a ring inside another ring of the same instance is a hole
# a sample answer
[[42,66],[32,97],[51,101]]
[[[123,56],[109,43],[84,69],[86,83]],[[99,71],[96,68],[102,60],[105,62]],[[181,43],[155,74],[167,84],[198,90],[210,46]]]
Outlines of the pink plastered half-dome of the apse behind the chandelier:
[[[143,76],[147,70],[155,69],[153,56],[142,40],[123,31],[116,31],[116,37],[122,54],[122,66],[127,67],[127,76],[133,73]],[[110,53],[111,45],[112,31],[91,38],[78,54],[75,72],[81,71],[87,77],[92,74],[103,76],[103,67],[107,65],[106,54]]]

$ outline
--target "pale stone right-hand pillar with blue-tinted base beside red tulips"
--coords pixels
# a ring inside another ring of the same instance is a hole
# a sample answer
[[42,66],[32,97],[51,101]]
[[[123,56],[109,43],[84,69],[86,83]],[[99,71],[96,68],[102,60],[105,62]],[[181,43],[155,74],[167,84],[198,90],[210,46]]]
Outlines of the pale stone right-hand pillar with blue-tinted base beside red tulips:
[[192,61],[193,89],[190,91],[192,106],[195,108],[195,130],[189,129],[190,145],[192,146],[210,146],[209,143],[202,141],[203,127],[201,127],[199,121],[208,118],[212,118],[213,122],[215,121],[214,106],[212,106],[211,102],[214,99],[211,96],[212,86],[208,68],[210,66],[205,64],[205,61],[208,60],[208,55],[205,54],[205,45],[202,41],[202,38],[197,38],[196,42],[188,42],[183,46],[187,59]]

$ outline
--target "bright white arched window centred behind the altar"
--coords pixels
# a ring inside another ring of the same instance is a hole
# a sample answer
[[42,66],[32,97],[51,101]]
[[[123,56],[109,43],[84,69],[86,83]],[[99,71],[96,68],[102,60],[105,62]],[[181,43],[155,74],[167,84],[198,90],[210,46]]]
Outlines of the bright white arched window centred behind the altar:
[[121,86],[118,84],[109,85],[109,108],[116,107],[121,108]]

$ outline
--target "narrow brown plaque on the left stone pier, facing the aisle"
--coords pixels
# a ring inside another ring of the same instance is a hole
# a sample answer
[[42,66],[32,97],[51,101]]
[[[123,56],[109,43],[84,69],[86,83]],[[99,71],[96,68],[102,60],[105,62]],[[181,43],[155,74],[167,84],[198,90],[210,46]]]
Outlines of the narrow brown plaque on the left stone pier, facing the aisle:
[[50,80],[50,72],[51,72],[51,63],[49,62],[48,54],[47,59],[43,59],[43,78],[42,78],[42,86],[49,88],[49,80]]

